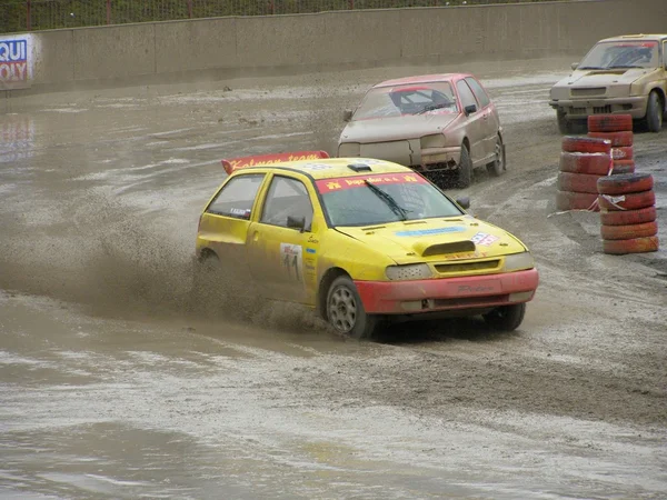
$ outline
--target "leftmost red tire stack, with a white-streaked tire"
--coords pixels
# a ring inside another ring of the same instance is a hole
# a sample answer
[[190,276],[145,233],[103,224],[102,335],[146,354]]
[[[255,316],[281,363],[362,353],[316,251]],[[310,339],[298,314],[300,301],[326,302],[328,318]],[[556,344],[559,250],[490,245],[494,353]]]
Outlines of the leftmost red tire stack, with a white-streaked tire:
[[611,141],[565,137],[560,153],[558,210],[598,210],[597,181],[611,171]]

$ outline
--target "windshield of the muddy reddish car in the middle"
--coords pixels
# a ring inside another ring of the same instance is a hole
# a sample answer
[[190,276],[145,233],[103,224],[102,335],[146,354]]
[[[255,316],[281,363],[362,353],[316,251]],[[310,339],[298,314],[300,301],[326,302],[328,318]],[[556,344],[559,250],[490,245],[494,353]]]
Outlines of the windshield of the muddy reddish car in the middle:
[[449,82],[404,84],[370,89],[355,111],[352,121],[420,113],[458,113]]

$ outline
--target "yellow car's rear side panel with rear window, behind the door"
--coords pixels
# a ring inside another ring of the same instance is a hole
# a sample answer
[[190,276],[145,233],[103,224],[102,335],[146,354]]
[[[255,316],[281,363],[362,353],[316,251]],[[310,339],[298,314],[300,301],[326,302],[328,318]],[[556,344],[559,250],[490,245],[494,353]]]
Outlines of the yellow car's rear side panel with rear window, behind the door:
[[246,242],[265,177],[266,173],[239,173],[230,178],[199,221],[198,239],[216,252],[225,271],[239,282],[250,279]]

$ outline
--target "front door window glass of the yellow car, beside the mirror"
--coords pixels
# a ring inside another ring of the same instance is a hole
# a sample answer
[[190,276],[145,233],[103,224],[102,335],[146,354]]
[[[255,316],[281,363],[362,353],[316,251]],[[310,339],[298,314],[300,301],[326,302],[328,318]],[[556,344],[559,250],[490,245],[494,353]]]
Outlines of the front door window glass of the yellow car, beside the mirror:
[[289,177],[276,176],[265,201],[260,222],[287,228],[287,218],[306,218],[306,230],[312,223],[312,203],[306,186]]

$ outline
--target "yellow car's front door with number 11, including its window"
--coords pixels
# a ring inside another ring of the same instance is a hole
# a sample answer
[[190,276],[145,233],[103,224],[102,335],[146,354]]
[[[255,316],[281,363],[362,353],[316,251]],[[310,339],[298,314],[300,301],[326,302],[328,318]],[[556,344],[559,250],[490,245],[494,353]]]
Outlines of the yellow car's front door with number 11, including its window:
[[325,224],[312,183],[298,173],[276,173],[262,198],[248,234],[253,279],[275,300],[315,304],[318,232]]

